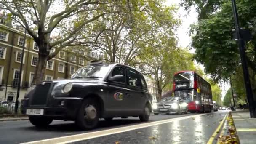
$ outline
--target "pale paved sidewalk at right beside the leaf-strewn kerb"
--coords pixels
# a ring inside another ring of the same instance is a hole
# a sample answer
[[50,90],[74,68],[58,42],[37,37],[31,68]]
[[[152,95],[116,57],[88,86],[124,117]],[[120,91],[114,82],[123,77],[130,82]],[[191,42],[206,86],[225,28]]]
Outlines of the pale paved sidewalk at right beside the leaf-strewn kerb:
[[248,110],[232,111],[235,128],[241,144],[256,144],[256,118]]

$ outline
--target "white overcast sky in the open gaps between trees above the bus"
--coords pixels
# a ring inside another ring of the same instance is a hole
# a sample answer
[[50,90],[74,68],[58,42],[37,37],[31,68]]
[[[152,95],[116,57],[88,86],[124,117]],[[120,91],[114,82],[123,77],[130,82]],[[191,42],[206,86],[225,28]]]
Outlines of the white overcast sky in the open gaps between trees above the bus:
[[[181,0],[166,0],[166,5],[179,5]],[[178,45],[181,48],[185,48],[189,46],[189,43],[191,43],[191,37],[189,37],[189,26],[190,24],[193,24],[197,22],[197,13],[195,11],[195,7],[191,8],[191,11],[189,12],[189,15],[187,15],[187,11],[184,10],[184,8],[179,8],[177,17],[181,18],[182,25],[179,27],[178,31],[176,32],[177,37],[179,38]],[[191,53],[195,53],[195,50],[190,50]],[[201,69],[204,69],[203,65],[197,64]],[[225,94],[227,93],[227,90],[229,89],[228,83],[222,83],[219,84],[221,90],[222,90],[222,97],[221,99],[224,99]]]

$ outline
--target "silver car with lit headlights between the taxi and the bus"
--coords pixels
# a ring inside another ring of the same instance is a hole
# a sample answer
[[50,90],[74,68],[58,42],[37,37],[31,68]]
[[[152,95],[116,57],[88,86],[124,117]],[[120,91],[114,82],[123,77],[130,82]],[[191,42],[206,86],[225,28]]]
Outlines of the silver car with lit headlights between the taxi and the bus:
[[154,114],[178,114],[187,113],[187,103],[180,97],[168,97],[152,106]]

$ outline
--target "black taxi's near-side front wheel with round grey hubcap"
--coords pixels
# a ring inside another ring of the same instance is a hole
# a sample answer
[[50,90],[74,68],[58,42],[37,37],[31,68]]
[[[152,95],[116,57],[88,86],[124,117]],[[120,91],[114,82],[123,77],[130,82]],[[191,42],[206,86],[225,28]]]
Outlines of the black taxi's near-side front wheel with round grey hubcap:
[[99,123],[99,104],[95,99],[88,98],[83,101],[77,114],[76,124],[83,130],[96,128]]

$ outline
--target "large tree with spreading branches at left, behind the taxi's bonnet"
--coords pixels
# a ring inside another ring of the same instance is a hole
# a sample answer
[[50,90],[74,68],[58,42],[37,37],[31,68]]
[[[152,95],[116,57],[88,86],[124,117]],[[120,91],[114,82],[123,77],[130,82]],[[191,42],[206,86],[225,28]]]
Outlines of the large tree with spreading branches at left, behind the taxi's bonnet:
[[[114,1],[114,0],[113,0]],[[112,1],[112,2],[113,2]],[[80,30],[106,13],[101,11],[110,5],[109,0],[1,0],[0,9],[12,14],[12,20],[24,27],[39,48],[35,70],[35,83],[43,79],[46,61],[56,56],[62,48],[76,40],[85,40]],[[32,21],[40,21],[30,28]],[[55,39],[50,43],[50,37]],[[91,42],[88,42],[91,43]],[[50,53],[51,48],[57,47]]]

